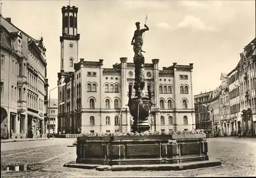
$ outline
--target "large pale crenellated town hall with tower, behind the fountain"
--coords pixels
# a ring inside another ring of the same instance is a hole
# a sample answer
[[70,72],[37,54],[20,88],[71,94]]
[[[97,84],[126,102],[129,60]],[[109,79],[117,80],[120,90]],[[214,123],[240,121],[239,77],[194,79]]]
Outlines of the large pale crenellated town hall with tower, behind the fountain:
[[[58,104],[65,103],[58,107],[58,133],[130,131],[132,120],[125,105],[128,86],[134,85],[134,63],[120,58],[120,63],[104,68],[103,59],[78,61],[77,13],[75,6],[62,7],[58,85],[66,85],[58,87]],[[159,59],[152,59],[144,67],[155,104],[148,119],[151,129],[195,129],[193,64],[159,69]]]

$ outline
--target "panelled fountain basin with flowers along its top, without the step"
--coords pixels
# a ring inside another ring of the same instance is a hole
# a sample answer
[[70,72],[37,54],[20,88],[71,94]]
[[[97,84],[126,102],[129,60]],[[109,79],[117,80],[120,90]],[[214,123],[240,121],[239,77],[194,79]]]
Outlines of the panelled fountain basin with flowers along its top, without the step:
[[174,164],[208,160],[201,130],[142,133],[83,133],[77,163],[100,165]]

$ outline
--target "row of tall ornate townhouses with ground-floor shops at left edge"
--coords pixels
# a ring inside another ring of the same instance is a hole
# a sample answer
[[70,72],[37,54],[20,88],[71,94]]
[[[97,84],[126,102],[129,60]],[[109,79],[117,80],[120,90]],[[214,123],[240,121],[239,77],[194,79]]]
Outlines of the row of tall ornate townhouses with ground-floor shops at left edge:
[[45,134],[45,52],[42,38],[35,40],[1,16],[1,138]]

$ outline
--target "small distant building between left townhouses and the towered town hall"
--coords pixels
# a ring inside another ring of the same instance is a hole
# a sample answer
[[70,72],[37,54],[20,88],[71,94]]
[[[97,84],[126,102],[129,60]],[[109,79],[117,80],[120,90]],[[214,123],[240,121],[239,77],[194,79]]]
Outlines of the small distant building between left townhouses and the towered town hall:
[[[48,121],[47,131],[46,133],[49,134],[49,125],[50,125],[50,135],[56,133],[58,130],[58,99],[50,99],[50,108],[48,106],[48,110],[50,110],[50,123]],[[49,113],[48,113],[49,114]],[[57,134],[57,133],[56,133]]]

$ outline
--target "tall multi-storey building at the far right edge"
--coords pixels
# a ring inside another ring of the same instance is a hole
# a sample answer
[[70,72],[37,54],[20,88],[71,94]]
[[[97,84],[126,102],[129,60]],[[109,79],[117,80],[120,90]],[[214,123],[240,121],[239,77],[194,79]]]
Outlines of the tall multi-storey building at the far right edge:
[[243,135],[256,134],[255,38],[244,47],[238,65],[228,74],[228,85],[230,119],[237,120]]

